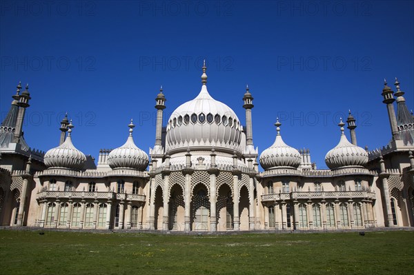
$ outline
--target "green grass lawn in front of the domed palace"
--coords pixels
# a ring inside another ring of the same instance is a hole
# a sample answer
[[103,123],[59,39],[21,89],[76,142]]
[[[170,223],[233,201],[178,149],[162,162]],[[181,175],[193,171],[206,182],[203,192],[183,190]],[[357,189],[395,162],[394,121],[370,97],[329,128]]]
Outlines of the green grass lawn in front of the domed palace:
[[0,274],[414,274],[414,232],[175,235],[0,230]]

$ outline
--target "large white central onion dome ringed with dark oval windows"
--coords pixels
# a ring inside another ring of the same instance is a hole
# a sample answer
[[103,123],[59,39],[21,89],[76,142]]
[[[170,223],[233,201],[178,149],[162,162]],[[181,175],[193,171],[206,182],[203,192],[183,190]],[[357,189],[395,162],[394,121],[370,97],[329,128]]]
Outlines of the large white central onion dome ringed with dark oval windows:
[[201,83],[199,95],[180,105],[168,119],[166,150],[171,154],[185,151],[188,147],[210,150],[213,146],[227,149],[230,153],[242,152],[242,125],[228,105],[208,94],[205,63]]

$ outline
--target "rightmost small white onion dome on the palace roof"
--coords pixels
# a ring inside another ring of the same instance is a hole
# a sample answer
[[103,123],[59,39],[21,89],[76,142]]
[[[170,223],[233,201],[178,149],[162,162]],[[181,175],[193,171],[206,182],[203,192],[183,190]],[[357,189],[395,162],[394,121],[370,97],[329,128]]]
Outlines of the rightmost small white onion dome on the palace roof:
[[344,134],[345,123],[341,122],[338,124],[341,128],[341,139],[338,145],[336,145],[331,151],[325,156],[325,163],[329,169],[334,170],[339,167],[345,166],[364,166],[368,162],[368,153],[362,148],[353,145],[346,139]]

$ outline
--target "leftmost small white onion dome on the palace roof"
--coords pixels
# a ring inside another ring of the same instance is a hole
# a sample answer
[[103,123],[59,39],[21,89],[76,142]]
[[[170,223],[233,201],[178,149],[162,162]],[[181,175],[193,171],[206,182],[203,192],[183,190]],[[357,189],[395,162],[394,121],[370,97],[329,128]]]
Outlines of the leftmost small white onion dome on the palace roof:
[[81,170],[86,163],[86,156],[72,144],[72,123],[65,142],[46,152],[44,162],[47,167],[62,167],[70,170]]

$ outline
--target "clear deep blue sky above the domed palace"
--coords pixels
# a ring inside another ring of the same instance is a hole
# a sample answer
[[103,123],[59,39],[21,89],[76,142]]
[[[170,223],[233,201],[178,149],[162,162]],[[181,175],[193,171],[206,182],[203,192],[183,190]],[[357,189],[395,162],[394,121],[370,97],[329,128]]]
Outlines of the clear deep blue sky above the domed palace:
[[1,121],[21,81],[31,147],[58,145],[67,111],[83,153],[124,144],[131,118],[148,153],[159,86],[168,119],[197,96],[206,59],[208,91],[243,124],[249,85],[259,153],[279,116],[284,141],[326,167],[348,109],[359,146],[391,139],[384,77],[414,108],[413,14],[413,1],[0,1]]

